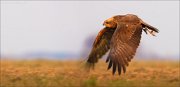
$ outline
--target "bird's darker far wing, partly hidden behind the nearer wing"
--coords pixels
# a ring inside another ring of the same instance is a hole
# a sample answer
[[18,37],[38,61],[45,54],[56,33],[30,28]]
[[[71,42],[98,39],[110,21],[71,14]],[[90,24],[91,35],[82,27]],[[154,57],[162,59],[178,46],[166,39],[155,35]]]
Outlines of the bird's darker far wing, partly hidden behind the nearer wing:
[[104,28],[102,29],[93,44],[93,48],[88,56],[88,67],[94,67],[94,64],[101,58],[110,48],[111,37],[115,29]]

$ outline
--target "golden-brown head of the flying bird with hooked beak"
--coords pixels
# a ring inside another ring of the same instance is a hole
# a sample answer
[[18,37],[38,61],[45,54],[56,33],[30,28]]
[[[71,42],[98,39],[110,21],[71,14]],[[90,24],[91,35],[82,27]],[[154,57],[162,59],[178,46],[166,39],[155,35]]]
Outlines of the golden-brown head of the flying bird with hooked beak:
[[105,20],[103,25],[108,28],[116,28],[117,27],[117,23],[113,17]]

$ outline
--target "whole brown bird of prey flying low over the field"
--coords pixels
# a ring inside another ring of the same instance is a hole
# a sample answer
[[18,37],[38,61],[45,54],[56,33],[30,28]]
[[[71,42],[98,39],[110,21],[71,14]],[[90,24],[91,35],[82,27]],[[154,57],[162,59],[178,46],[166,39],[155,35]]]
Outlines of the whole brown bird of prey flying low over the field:
[[112,67],[113,75],[116,70],[119,75],[122,71],[126,72],[139,46],[142,30],[153,36],[159,32],[133,14],[113,16],[105,20],[103,25],[105,27],[98,33],[86,64],[94,68],[98,59],[109,51],[106,63],[109,63],[108,70]]

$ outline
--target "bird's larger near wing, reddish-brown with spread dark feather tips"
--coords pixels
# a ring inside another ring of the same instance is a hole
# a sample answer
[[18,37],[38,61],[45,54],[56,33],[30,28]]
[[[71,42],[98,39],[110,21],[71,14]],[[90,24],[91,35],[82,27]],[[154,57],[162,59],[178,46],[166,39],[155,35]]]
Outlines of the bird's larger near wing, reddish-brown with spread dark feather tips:
[[111,39],[111,49],[106,62],[109,62],[108,69],[113,66],[113,74],[117,68],[120,75],[122,70],[126,72],[128,62],[135,55],[141,39],[142,26],[140,24],[119,25]]

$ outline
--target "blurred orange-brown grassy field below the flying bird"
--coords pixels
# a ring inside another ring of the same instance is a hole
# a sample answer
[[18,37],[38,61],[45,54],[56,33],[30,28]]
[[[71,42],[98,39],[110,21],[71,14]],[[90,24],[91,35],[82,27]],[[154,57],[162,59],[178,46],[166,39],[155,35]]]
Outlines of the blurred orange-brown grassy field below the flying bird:
[[180,87],[178,61],[135,61],[112,75],[100,61],[87,72],[79,61],[1,60],[0,87]]

